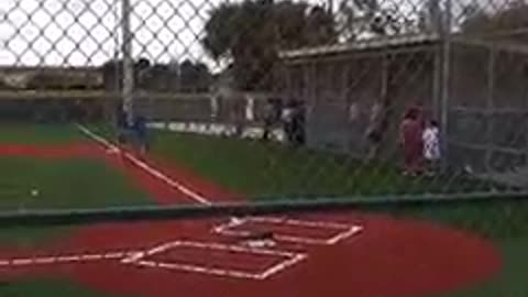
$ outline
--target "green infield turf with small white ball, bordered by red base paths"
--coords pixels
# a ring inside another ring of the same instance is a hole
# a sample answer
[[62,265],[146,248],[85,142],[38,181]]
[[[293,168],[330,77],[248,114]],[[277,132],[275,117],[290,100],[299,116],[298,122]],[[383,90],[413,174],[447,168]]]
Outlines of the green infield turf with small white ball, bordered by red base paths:
[[[150,204],[133,180],[96,160],[0,157],[0,211]],[[0,241],[33,244],[63,229],[2,229]]]

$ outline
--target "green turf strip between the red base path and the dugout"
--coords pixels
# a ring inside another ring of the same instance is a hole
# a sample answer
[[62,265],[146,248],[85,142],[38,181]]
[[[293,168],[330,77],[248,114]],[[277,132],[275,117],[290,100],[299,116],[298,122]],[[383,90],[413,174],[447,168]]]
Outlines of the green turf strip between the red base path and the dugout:
[[409,178],[395,164],[258,141],[156,132],[153,151],[254,199],[460,193],[488,186],[461,175]]

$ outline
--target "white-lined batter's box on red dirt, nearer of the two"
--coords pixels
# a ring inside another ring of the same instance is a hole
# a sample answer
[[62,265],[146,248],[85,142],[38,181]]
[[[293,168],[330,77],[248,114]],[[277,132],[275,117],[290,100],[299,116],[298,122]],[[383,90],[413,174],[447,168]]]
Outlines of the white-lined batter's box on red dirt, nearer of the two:
[[[257,273],[251,273],[251,272],[246,272],[238,268],[227,268],[227,267],[222,268],[222,267],[213,267],[213,266],[209,267],[205,265],[195,265],[195,264],[186,264],[186,263],[166,263],[166,262],[147,260],[147,256],[164,253],[166,251],[169,251],[172,249],[176,249],[179,246],[199,249],[199,250],[206,250],[206,251],[226,251],[230,253],[268,255],[274,257],[280,257],[284,260]],[[141,255],[140,254],[130,255],[129,257],[121,260],[121,262],[124,264],[132,264],[132,265],[145,266],[151,268],[165,268],[170,271],[198,273],[198,274],[213,275],[213,276],[221,276],[221,277],[265,280],[287,268],[295,266],[296,264],[300,263],[307,257],[308,255],[304,253],[293,253],[293,252],[280,251],[280,250],[266,250],[262,248],[252,249],[252,248],[244,248],[241,245],[221,244],[221,243],[215,243],[215,242],[173,241],[173,242],[156,246],[145,253],[142,253]]]

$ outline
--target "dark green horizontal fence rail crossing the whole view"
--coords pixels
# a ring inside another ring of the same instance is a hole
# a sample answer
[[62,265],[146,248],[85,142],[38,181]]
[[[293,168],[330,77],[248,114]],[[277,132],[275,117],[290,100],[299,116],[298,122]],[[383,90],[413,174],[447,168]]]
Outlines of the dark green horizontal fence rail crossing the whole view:
[[318,213],[331,211],[398,211],[424,207],[457,209],[461,206],[494,207],[519,204],[524,207],[526,194],[503,193],[501,198],[490,193],[473,193],[449,197],[444,195],[407,195],[372,199],[318,198],[295,201],[221,202],[175,207],[116,207],[100,209],[26,210],[0,212],[0,229],[20,227],[91,226],[114,222],[166,221],[211,218],[245,218],[252,216],[278,216],[288,213]]

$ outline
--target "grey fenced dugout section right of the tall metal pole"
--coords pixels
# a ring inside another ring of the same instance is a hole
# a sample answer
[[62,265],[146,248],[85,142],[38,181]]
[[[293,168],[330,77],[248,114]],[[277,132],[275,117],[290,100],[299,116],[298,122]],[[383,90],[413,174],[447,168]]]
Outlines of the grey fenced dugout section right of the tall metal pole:
[[457,44],[452,51],[449,120],[453,162],[522,186],[526,48],[497,42]]

